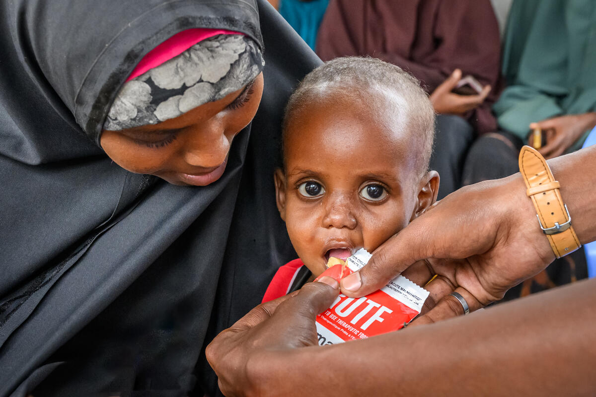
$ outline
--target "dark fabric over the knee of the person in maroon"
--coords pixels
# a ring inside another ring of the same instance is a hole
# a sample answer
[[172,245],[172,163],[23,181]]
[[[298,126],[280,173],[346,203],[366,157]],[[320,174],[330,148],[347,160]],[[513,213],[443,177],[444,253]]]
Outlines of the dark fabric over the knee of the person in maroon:
[[474,130],[463,118],[451,114],[437,115],[429,168],[439,171],[439,200],[461,187],[465,155],[473,140]]

